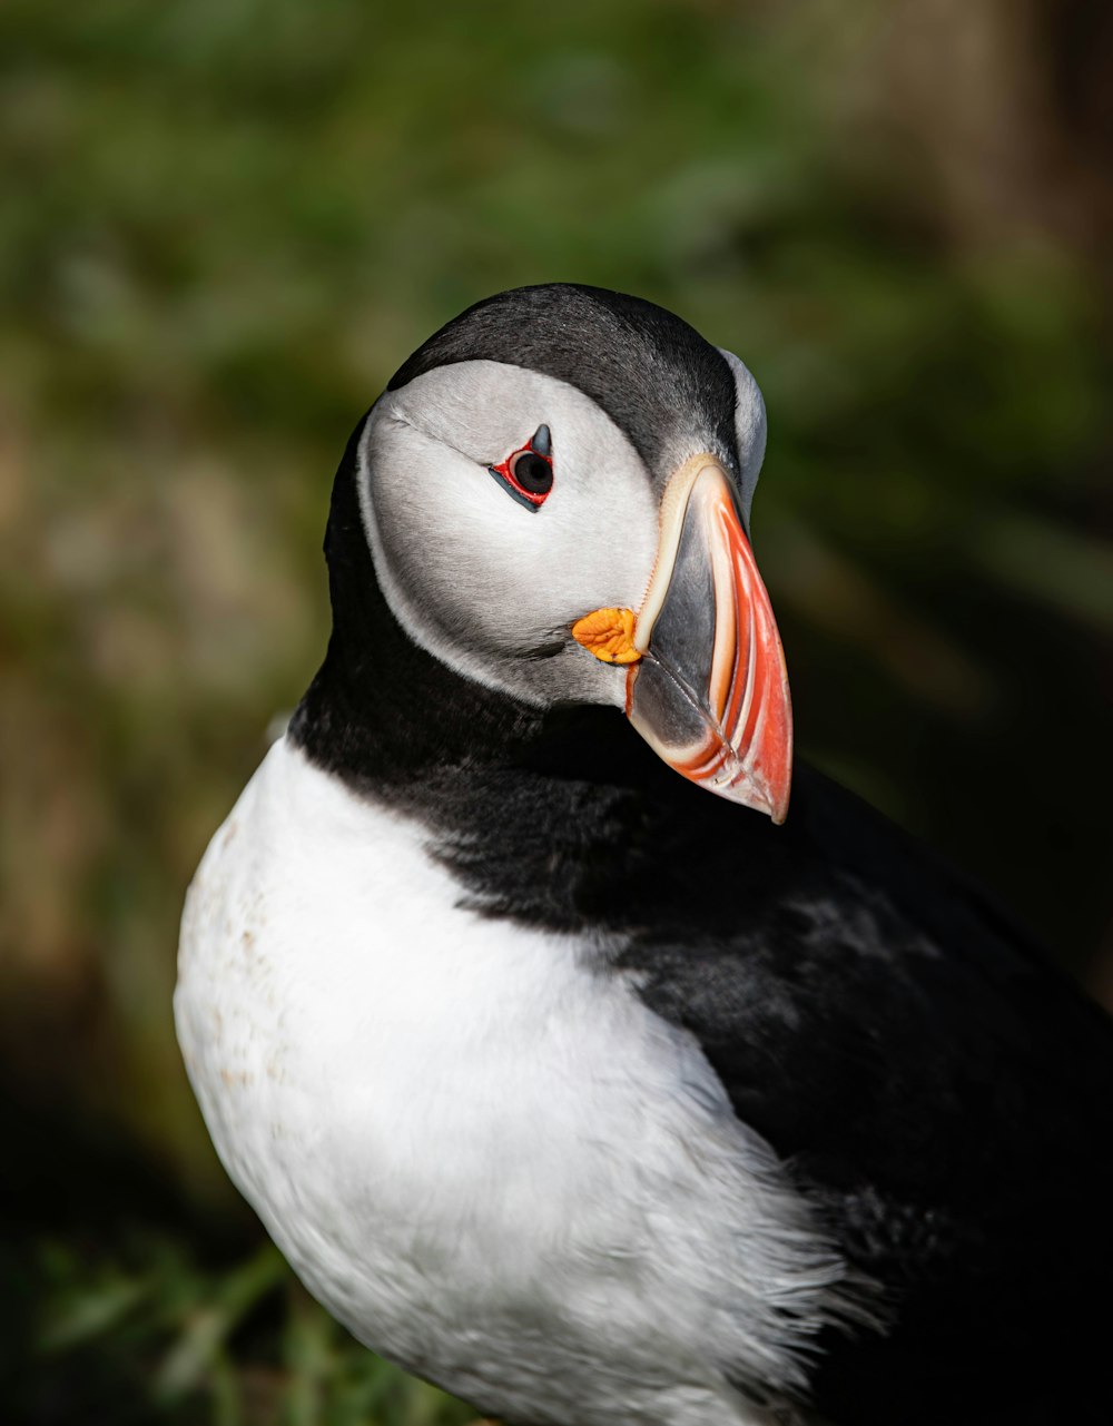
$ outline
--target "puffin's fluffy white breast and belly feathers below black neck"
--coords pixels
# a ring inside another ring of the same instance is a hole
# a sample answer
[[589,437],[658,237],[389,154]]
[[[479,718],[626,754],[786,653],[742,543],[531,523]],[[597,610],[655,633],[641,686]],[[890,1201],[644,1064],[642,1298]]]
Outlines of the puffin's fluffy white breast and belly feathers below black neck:
[[182,921],[229,1175],[358,1338],[487,1412],[765,1420],[725,1373],[798,1383],[838,1261],[603,947],[459,901],[419,829],[272,747]]

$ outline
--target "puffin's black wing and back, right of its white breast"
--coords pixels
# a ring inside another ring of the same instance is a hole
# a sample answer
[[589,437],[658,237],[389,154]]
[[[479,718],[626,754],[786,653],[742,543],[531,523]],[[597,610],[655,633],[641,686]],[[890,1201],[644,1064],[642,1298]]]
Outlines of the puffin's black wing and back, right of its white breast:
[[886,1289],[884,1336],[824,1342],[817,1407],[852,1426],[1113,1420],[1107,1017],[819,774],[799,770],[784,829],[690,806],[670,848],[690,884],[646,887],[621,964]]

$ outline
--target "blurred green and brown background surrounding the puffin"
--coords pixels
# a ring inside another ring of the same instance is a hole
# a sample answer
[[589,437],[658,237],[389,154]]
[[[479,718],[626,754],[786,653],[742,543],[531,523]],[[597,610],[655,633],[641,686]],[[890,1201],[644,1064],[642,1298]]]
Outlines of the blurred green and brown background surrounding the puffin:
[[422,1426],[224,1181],[177,918],[345,439],[570,278],[754,369],[802,750],[1113,1001],[1104,0],[6,0],[0,1415]]

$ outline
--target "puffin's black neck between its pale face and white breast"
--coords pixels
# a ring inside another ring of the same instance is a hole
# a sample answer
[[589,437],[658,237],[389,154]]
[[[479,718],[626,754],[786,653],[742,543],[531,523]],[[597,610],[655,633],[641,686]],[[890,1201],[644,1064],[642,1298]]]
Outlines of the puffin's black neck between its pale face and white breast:
[[685,789],[617,709],[532,707],[409,637],[375,576],[355,439],[325,539],[332,636],[289,736],[359,796],[419,819],[489,904],[574,921],[636,874],[650,829]]

